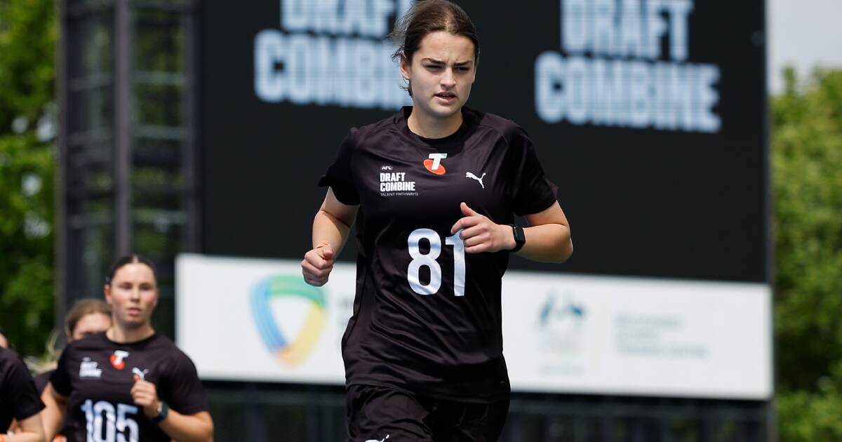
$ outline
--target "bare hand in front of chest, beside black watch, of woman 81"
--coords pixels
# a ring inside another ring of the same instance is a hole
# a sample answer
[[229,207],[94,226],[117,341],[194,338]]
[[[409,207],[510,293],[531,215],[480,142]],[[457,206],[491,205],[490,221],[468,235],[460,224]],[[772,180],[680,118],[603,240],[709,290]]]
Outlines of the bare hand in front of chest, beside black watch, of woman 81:
[[461,230],[466,253],[499,252],[514,248],[512,226],[496,224],[465,203],[459,205],[465,215],[450,228],[450,234]]

